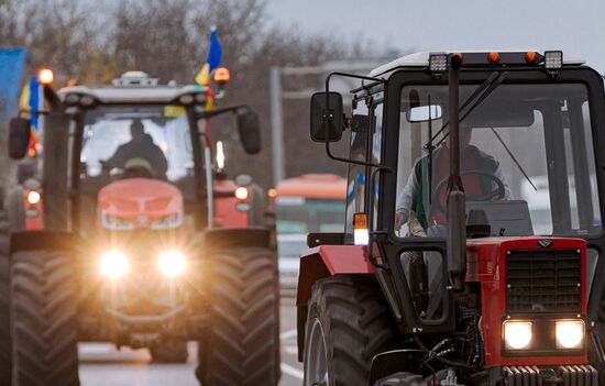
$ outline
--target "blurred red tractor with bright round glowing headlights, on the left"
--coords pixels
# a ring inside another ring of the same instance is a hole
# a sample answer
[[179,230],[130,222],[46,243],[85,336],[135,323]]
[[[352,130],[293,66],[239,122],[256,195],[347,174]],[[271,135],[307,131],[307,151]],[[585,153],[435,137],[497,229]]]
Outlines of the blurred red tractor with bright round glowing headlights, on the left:
[[[206,88],[140,71],[44,93],[43,229],[13,230],[6,275],[13,333],[0,339],[12,343],[12,382],[77,384],[80,341],[148,348],[155,362],[185,362],[197,341],[204,385],[276,385],[279,294],[265,195],[212,163],[207,125],[234,113],[255,154],[257,117],[244,106],[208,110]],[[13,157],[28,125],[11,125]]]

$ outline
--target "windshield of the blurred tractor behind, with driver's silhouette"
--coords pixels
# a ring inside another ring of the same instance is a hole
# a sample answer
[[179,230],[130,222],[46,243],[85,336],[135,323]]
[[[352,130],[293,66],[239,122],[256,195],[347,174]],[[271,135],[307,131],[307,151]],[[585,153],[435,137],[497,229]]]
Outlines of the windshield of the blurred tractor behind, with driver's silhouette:
[[87,115],[80,156],[96,177],[138,169],[148,177],[177,181],[193,174],[189,125],[178,106],[105,106]]

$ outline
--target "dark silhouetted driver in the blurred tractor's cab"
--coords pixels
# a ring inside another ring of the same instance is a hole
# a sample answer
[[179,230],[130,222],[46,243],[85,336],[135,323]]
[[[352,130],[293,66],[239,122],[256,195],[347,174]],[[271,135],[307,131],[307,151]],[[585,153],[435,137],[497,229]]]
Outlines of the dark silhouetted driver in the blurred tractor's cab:
[[146,168],[154,177],[166,176],[168,163],[164,152],[157,146],[140,120],[133,120],[130,125],[131,140],[118,147],[116,153],[107,161],[103,167],[111,169],[119,167]]

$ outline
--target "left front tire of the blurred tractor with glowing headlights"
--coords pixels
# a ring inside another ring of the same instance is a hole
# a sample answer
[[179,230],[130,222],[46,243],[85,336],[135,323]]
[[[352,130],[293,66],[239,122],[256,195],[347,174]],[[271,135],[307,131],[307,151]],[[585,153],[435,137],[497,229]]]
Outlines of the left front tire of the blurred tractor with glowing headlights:
[[76,386],[77,299],[74,261],[58,251],[11,255],[13,377],[19,386]]

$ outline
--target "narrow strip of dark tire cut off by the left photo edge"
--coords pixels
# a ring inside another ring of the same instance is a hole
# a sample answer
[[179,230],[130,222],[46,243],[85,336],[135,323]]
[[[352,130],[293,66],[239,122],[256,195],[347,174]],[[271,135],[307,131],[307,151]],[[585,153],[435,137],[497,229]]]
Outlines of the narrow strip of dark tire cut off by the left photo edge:
[[10,264],[9,227],[4,211],[0,211],[0,386],[11,385],[12,343],[10,331]]

